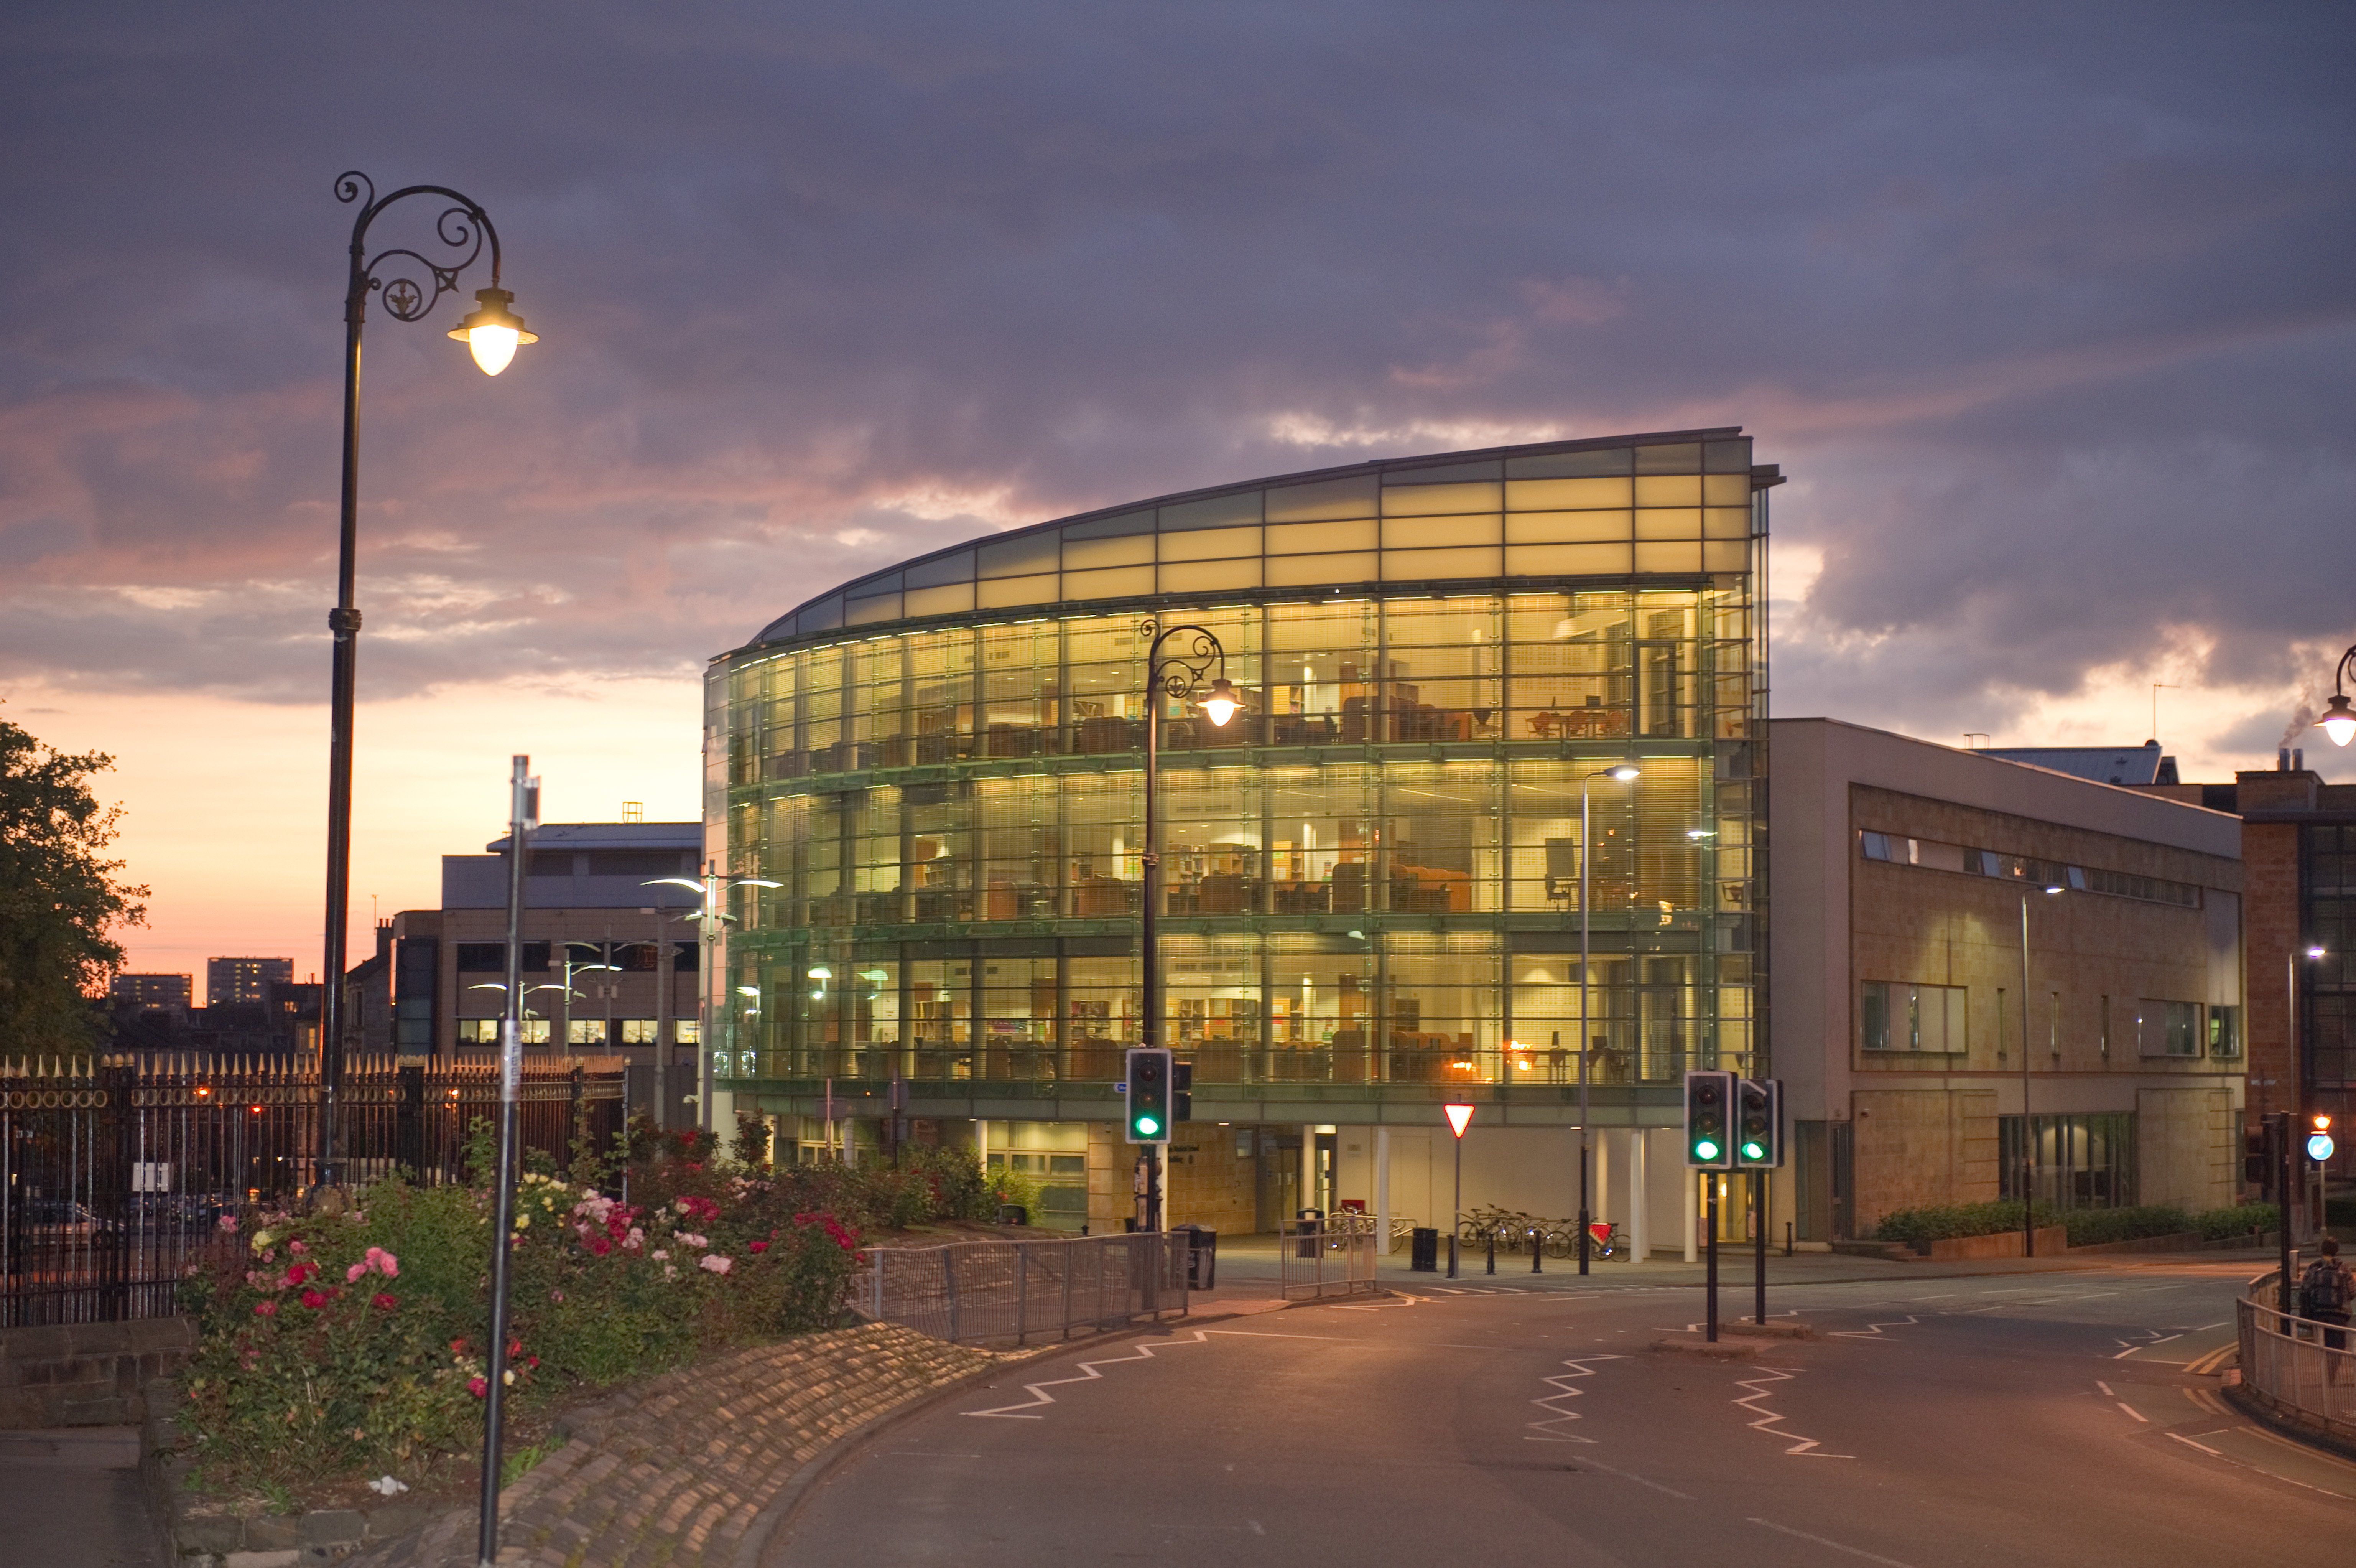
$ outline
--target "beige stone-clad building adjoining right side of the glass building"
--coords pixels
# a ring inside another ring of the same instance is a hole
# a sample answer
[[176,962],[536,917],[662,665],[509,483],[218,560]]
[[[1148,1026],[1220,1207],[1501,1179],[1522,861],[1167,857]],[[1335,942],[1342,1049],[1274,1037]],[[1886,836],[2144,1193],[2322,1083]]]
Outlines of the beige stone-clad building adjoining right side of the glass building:
[[2024,1179],[2236,1203],[2241,821],[1831,719],[1769,733],[1779,1221],[1861,1238]]

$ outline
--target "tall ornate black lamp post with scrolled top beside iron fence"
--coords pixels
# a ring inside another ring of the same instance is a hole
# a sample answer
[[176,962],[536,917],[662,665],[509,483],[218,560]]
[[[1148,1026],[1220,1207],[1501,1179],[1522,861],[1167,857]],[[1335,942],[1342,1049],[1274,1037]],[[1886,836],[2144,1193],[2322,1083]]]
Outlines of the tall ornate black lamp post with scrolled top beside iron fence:
[[[448,250],[445,259],[426,257],[405,245],[368,252],[368,226],[386,207],[410,196],[431,196],[450,203],[434,219],[434,241]],[[318,1179],[339,1179],[339,1113],[344,1092],[344,946],[351,910],[351,710],[358,679],[360,611],[351,604],[351,582],[358,554],[360,512],[360,325],[368,318],[368,297],[384,295],[384,309],[393,321],[424,321],[443,295],[457,288],[457,276],[474,266],[490,245],[490,288],[474,292],[476,309],[459,318],[457,337],[474,351],[474,363],[483,375],[499,375],[516,356],[516,344],[540,342],[514,314],[516,297],[499,288],[499,231],[490,226],[490,215],[471,196],[459,196],[450,186],[403,186],[379,198],[375,182],[360,170],[344,170],[335,179],[339,203],[360,203],[351,219],[351,271],[344,283],[344,521],[337,545],[335,608],[327,611],[327,632],[335,637],[335,660],[330,674],[330,743],[327,743],[327,953],[320,967],[320,1014],[318,1014]]]

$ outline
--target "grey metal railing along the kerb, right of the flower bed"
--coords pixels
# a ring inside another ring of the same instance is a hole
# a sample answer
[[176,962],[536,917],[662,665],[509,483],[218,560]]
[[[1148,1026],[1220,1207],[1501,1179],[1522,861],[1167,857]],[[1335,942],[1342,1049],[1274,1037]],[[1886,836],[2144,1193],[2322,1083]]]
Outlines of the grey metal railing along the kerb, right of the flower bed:
[[1187,1309],[1187,1238],[1171,1231],[874,1247],[869,1259],[851,1306],[935,1339],[1030,1344]]

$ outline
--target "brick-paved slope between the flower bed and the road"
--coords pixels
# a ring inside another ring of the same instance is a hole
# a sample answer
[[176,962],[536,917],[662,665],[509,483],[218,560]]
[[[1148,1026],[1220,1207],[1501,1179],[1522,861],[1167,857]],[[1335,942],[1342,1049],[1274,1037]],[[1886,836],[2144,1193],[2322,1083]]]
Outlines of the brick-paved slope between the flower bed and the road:
[[[735,1568],[787,1481],[829,1443],[1006,1356],[891,1323],[667,1372],[575,1410],[565,1445],[499,1497],[499,1563]],[[346,1568],[474,1568],[476,1516],[443,1514]]]

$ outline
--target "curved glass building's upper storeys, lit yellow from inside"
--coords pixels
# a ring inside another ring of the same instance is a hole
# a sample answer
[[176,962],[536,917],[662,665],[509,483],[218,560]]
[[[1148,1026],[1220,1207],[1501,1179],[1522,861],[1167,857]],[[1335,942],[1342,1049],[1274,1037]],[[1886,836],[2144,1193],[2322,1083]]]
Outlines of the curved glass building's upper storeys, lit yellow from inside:
[[[1772,483],[1739,429],[1366,462],[799,606],[707,677],[707,851],[780,884],[730,905],[716,1087],[874,1115],[898,1078],[916,1118],[1110,1129],[1159,724],[1197,1118],[1574,1122],[1586,851],[1593,1101],[1668,1125],[1762,1026]],[[1150,618],[1223,644],[1227,726],[1147,700]]]

